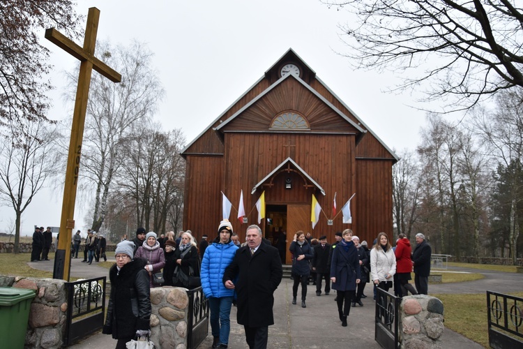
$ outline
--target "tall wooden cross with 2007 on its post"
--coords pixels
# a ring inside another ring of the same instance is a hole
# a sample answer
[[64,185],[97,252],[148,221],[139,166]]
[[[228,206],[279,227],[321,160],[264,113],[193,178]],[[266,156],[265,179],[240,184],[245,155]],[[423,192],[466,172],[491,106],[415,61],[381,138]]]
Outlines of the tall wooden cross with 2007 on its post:
[[91,73],[94,70],[107,77],[113,82],[120,82],[121,75],[112,70],[94,57],[96,45],[96,34],[98,32],[98,20],[100,10],[89,8],[87,24],[85,29],[84,47],[75,44],[73,40],[66,38],[54,28],[45,31],[45,38],[58,45],[66,52],[79,59],[80,73],[76,91],[75,111],[73,112],[73,126],[71,126],[71,139],[69,142],[69,155],[67,158],[66,184],[63,188],[62,214],[60,219],[60,232],[58,248],[54,257],[54,279],[69,281],[71,237],[75,228],[75,200],[79,175],[80,156],[82,155],[82,140],[84,138],[85,113],[87,110],[87,99],[89,98],[89,85],[91,84]]

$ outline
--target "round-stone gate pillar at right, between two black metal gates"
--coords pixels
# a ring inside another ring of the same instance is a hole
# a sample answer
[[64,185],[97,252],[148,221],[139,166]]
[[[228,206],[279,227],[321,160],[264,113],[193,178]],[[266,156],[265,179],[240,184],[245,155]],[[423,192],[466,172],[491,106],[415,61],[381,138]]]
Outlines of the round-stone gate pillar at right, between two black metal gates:
[[400,348],[441,348],[444,332],[444,307],[436,297],[403,297],[400,304],[398,338]]

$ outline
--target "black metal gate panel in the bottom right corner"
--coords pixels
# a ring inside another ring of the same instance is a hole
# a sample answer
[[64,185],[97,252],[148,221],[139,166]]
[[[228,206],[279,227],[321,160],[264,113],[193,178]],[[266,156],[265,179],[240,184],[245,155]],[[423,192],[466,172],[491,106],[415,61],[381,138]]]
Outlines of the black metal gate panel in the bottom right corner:
[[523,298],[487,291],[491,348],[523,348]]

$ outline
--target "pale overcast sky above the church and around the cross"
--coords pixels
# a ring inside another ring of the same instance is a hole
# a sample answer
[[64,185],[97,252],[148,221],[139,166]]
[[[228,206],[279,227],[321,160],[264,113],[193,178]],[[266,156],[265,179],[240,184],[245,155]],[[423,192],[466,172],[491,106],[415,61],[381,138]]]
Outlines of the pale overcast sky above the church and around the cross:
[[[80,0],[77,11],[86,16],[93,6],[100,10],[98,40],[114,45],[138,40],[154,52],[153,66],[166,92],[156,119],[166,131],[181,128],[187,142],[292,48],[388,147],[418,145],[425,112],[409,105],[416,105],[414,98],[419,96],[384,92],[399,82],[397,77],[352,70],[348,59],[337,53],[349,50],[338,28],[351,21],[344,10],[328,8],[319,0]],[[56,86],[50,94],[54,103],[50,119],[64,119],[72,111],[61,101],[63,72],[73,70],[77,62],[43,36],[44,31],[40,37],[55,65],[50,76]],[[62,195],[56,191],[38,195],[22,216],[22,235],[32,233],[34,224],[58,226]],[[84,232],[89,227],[79,204],[75,230]],[[12,211],[0,207],[0,231],[6,230]]]

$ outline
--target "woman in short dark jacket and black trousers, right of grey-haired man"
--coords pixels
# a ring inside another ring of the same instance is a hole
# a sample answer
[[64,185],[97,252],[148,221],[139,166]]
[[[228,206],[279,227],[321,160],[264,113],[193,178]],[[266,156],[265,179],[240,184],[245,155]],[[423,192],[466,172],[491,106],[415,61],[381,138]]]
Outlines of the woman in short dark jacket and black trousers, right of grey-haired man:
[[307,297],[307,284],[310,275],[310,260],[314,257],[310,244],[305,240],[305,233],[298,230],[294,234],[294,239],[289,247],[292,258],[291,275],[294,279],[292,285],[292,304],[296,304],[296,297],[298,296],[298,285],[301,283],[301,307],[305,308],[305,298]]

